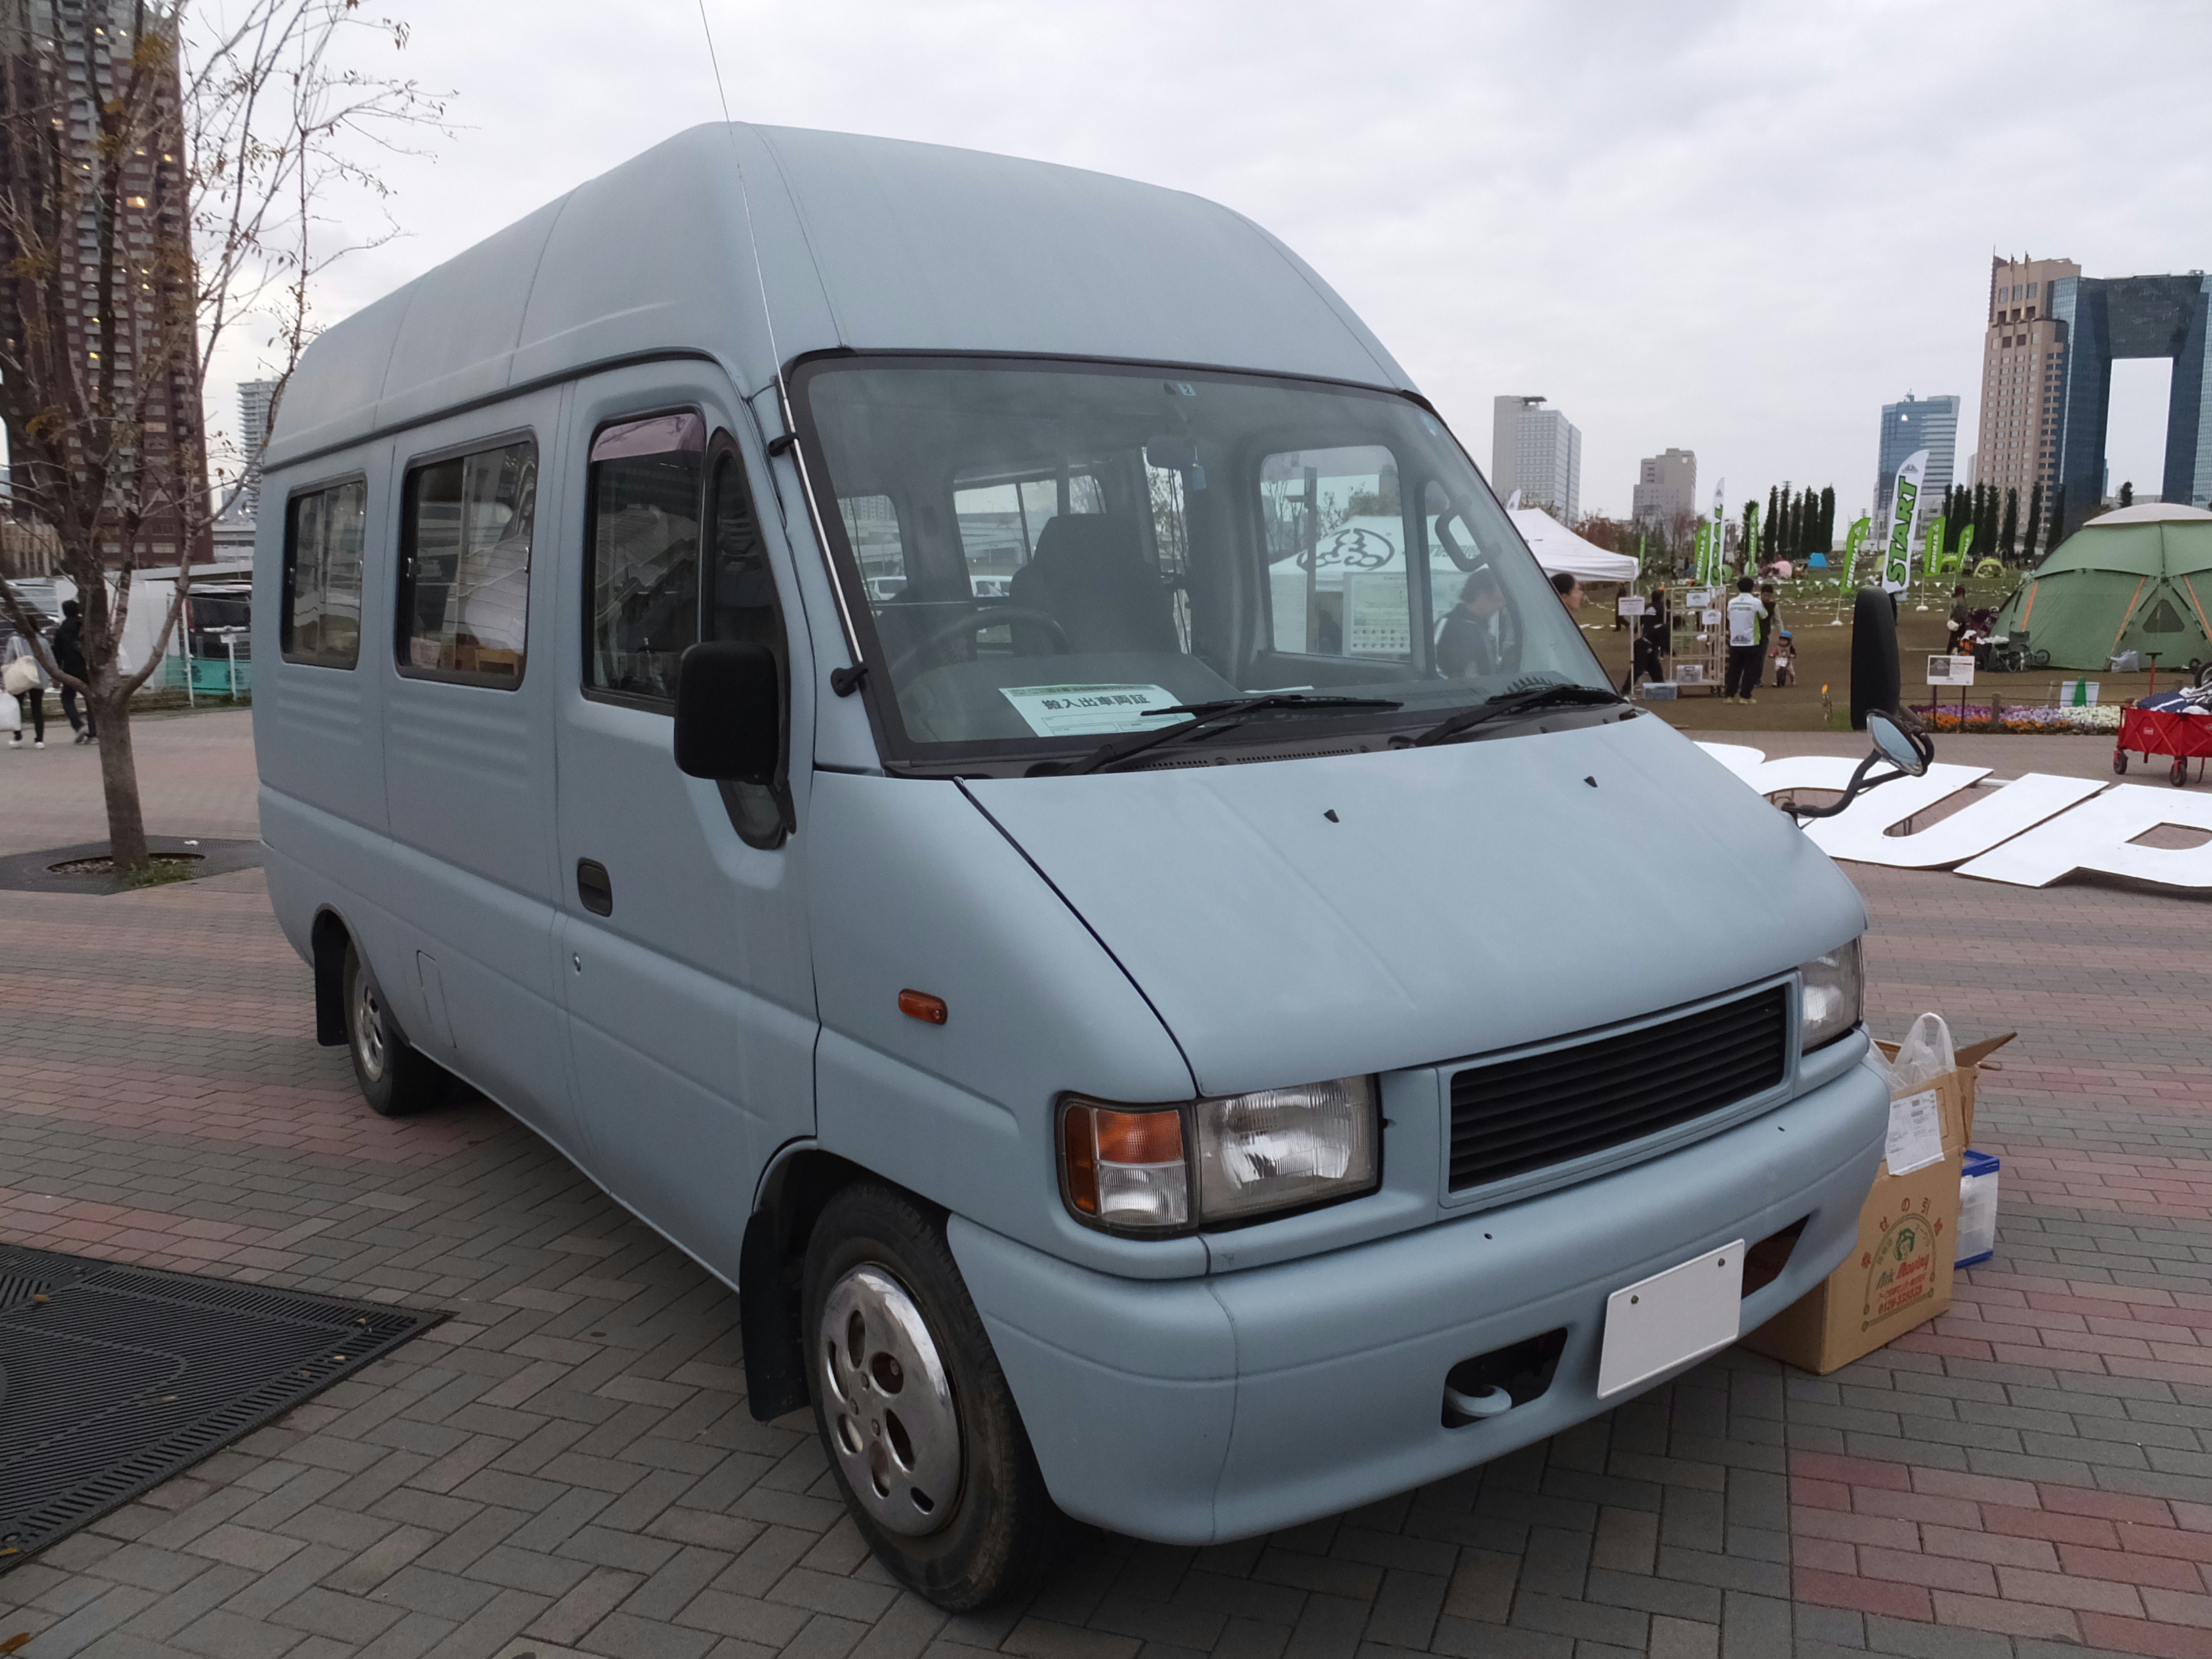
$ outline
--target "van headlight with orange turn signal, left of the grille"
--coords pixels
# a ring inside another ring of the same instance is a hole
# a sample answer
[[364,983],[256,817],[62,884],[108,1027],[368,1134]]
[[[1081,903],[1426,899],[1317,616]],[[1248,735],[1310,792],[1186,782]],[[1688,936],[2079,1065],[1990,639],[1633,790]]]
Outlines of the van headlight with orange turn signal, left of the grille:
[[1186,1106],[1060,1102],[1060,1186],[1077,1221],[1164,1234],[1371,1192],[1374,1077],[1219,1095]]

